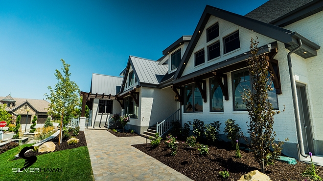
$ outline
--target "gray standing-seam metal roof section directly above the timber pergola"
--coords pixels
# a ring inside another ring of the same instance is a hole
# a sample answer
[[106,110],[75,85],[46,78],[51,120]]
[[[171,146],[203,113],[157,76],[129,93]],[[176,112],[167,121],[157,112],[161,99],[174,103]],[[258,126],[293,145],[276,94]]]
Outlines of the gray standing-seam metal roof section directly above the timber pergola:
[[90,92],[95,94],[116,95],[116,86],[121,86],[122,77],[92,74]]

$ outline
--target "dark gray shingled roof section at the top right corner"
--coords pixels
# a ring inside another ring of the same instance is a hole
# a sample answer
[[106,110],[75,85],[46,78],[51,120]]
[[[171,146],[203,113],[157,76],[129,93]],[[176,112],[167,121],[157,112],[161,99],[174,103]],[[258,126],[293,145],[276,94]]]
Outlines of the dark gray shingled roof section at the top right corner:
[[270,23],[310,1],[312,0],[269,0],[246,14],[245,17]]

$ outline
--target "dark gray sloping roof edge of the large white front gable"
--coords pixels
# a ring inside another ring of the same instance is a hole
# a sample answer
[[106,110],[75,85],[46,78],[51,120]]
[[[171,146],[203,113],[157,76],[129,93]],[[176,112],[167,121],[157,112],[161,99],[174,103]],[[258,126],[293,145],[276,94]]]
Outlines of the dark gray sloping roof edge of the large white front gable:
[[[179,67],[177,68],[177,71],[174,77],[175,79],[178,79],[182,76],[185,66],[187,65],[187,61],[192,55],[195,45],[200,39],[201,34],[204,31],[205,26],[208,22],[208,19],[210,18],[211,15],[218,17],[222,20],[232,22],[234,24],[237,24],[241,27],[244,27],[256,33],[262,34],[266,37],[283,42],[285,43],[285,46],[288,49],[293,49],[295,46],[297,46],[298,45],[297,39],[301,39],[303,41],[304,46],[300,48],[298,52],[295,52],[295,53],[303,58],[316,56],[316,50],[320,49],[319,45],[306,39],[305,37],[301,36],[297,32],[292,32],[290,30],[280,28],[272,24],[254,20],[235,13],[231,13],[223,9],[219,9],[219,8],[207,5],[202,14],[201,19],[197,24],[196,29],[194,30],[192,39],[187,46],[187,49],[183,55],[182,61]],[[305,52],[305,51],[307,51],[308,53],[303,54],[302,52]]]

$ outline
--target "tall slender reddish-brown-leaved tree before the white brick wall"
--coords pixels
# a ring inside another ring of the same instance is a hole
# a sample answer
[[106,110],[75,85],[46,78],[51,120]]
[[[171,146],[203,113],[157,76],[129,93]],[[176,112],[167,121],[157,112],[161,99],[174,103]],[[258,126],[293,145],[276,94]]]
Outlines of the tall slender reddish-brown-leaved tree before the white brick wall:
[[[250,150],[255,161],[260,164],[261,172],[265,173],[265,166],[279,157],[283,143],[279,142],[278,145],[274,143],[276,134],[273,131],[273,124],[276,113],[268,99],[268,91],[272,90],[272,75],[268,74],[269,62],[265,55],[257,55],[259,43],[257,40],[258,38],[251,39],[250,56],[247,60],[252,78],[252,90],[244,89],[242,100],[250,117]],[[271,147],[274,152],[271,152]]]

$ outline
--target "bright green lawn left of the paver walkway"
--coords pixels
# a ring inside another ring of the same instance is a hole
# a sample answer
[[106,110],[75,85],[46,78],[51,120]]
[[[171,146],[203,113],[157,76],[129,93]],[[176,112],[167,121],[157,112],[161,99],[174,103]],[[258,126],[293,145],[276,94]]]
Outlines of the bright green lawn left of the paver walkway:
[[[23,146],[30,146],[26,144]],[[47,153],[37,156],[37,161],[29,168],[61,168],[62,172],[19,172],[12,168],[22,168],[23,159],[13,161],[18,153],[16,147],[0,154],[0,181],[94,181],[89,150],[86,146]]]

